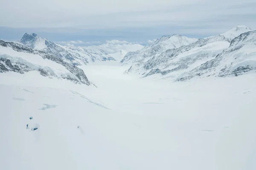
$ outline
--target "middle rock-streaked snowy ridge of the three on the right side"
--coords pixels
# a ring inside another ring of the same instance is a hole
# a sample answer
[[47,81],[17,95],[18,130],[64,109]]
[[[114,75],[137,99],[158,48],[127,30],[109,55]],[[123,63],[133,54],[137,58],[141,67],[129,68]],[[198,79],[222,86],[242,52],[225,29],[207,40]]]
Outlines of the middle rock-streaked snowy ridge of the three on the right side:
[[160,73],[162,75],[168,74],[170,78],[172,77],[175,80],[184,71],[192,70],[198,65],[213,59],[229,44],[228,40],[220,35],[199,39],[190,45],[169,49],[157,57],[154,56],[137,69],[141,71],[144,77]]

